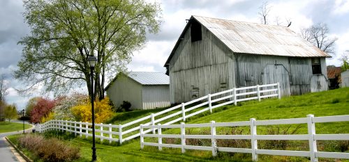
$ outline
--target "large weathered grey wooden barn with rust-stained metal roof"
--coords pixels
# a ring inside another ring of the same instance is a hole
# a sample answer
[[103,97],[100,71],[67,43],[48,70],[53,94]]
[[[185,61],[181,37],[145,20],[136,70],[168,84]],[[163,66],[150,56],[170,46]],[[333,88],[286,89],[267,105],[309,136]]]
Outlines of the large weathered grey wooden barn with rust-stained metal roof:
[[327,57],[288,27],[192,16],[164,66],[174,104],[277,82],[283,96],[327,90]]

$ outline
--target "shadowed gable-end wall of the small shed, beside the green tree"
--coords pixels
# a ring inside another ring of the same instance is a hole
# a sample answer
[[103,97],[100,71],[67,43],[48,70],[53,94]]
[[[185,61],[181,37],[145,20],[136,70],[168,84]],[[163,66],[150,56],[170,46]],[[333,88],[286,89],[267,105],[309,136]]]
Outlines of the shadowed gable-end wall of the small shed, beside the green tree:
[[107,89],[107,96],[114,106],[119,107],[123,101],[131,103],[132,109],[142,109],[142,85],[127,76],[118,76]]

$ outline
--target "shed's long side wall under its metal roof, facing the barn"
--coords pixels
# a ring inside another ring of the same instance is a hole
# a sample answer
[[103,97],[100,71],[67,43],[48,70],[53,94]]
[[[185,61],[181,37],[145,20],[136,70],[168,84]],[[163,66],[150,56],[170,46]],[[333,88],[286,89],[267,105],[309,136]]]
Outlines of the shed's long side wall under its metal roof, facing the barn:
[[170,87],[168,85],[142,86],[143,110],[170,105]]

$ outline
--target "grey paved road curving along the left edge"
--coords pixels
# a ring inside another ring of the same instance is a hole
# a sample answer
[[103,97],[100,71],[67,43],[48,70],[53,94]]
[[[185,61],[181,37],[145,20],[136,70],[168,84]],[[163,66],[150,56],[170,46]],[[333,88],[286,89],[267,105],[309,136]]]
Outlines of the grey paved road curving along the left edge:
[[[22,122],[22,121],[13,121],[13,122]],[[26,133],[31,132],[31,129],[27,129]],[[6,136],[10,136],[13,134],[23,133],[23,131],[12,131],[8,133],[0,133],[0,162],[13,162],[18,161],[16,156],[11,151],[7,141],[5,141]]]

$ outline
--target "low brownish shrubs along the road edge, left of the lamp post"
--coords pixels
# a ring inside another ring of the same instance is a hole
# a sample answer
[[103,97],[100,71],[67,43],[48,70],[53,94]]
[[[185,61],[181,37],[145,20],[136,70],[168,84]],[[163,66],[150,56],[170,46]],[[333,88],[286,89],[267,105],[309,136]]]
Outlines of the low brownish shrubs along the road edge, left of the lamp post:
[[77,147],[70,147],[57,138],[27,134],[18,139],[20,147],[29,149],[43,161],[73,161],[80,157]]

